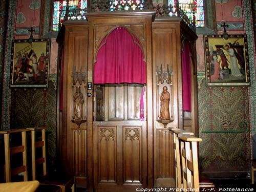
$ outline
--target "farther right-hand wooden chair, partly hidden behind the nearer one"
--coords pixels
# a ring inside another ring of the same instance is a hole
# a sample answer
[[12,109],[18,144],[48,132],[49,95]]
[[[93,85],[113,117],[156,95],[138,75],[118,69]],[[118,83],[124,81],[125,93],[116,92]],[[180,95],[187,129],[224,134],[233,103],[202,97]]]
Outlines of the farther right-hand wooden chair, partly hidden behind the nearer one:
[[170,127],[170,131],[173,132],[173,138],[174,138],[174,154],[175,154],[175,177],[176,177],[176,188],[182,188],[182,173],[181,173],[181,161],[180,161],[180,146],[179,146],[179,138],[178,134],[184,133],[184,134],[190,134],[194,135],[194,133],[186,132],[184,130]]

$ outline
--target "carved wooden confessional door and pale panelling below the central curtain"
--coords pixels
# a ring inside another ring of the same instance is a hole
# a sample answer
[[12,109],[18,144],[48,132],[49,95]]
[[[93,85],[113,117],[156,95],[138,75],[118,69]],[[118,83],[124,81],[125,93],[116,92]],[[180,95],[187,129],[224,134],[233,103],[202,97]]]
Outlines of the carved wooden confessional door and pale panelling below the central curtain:
[[141,84],[95,85],[94,190],[146,186],[146,121],[140,121]]

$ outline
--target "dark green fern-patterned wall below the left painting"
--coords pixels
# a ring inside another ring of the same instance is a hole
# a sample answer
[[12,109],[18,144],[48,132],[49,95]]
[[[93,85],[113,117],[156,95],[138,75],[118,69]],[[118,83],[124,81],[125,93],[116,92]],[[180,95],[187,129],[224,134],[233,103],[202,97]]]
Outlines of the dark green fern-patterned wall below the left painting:
[[11,92],[11,129],[49,126],[48,161],[55,164],[56,90],[53,81],[48,89],[13,89]]

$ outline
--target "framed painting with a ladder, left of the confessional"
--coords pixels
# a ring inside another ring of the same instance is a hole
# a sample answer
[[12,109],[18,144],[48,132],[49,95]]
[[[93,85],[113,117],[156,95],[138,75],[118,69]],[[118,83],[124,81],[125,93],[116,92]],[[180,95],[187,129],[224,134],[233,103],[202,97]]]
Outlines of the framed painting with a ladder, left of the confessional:
[[48,88],[50,39],[12,40],[11,88]]

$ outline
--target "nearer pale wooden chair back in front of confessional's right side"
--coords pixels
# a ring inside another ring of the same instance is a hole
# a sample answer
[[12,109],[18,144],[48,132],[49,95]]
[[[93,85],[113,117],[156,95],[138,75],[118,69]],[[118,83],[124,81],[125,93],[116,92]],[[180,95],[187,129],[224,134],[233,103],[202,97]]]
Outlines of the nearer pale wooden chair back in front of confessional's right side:
[[183,188],[199,189],[199,170],[197,143],[201,138],[187,134],[179,134]]

